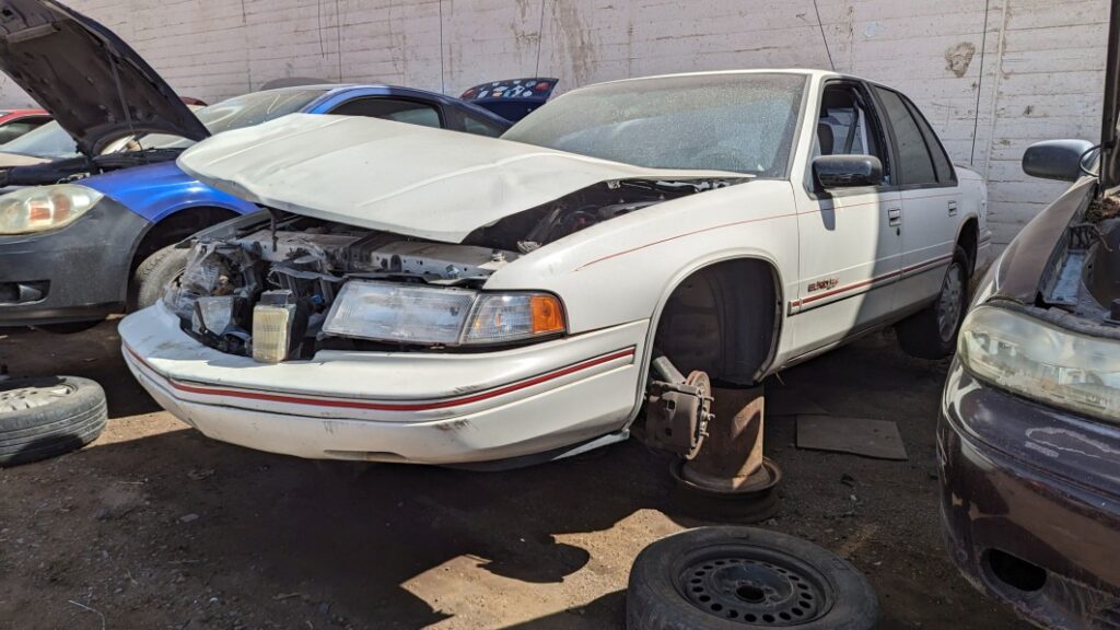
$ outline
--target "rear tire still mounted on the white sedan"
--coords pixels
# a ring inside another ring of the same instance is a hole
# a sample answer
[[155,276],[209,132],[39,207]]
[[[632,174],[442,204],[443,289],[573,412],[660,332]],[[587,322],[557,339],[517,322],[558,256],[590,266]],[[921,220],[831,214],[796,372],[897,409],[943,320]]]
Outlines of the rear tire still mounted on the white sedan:
[[969,254],[960,247],[945,270],[937,300],[895,326],[903,352],[944,359],[956,350],[956,334],[969,307]]

